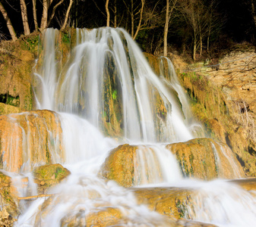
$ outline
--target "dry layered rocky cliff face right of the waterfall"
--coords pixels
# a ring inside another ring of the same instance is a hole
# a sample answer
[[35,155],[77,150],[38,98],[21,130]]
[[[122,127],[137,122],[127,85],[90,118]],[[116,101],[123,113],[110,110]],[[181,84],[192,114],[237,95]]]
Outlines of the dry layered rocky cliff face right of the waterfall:
[[170,56],[194,115],[208,133],[232,148],[248,176],[256,176],[256,55],[254,47],[237,45],[218,60],[185,64]]

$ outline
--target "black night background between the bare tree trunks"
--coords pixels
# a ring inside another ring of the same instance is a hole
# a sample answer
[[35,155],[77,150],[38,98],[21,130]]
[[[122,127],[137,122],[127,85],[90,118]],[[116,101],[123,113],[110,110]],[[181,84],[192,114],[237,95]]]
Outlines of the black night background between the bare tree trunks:
[[[43,0],[41,0],[43,1]],[[37,20],[40,24],[40,18],[42,15],[42,2],[36,1],[36,13]],[[58,0],[59,1],[59,0]],[[58,2],[53,0],[54,2]],[[178,0],[179,3],[186,0]],[[187,0],[194,1],[194,0]],[[11,18],[11,23],[14,26],[14,30],[17,37],[22,36],[24,33],[23,23],[21,18],[20,1],[18,0],[0,0],[8,16]],[[33,23],[33,11],[32,0],[26,0],[27,15],[30,25],[31,33],[35,30]],[[106,0],[74,0],[71,8],[71,14],[68,20],[68,26],[79,28],[96,28],[100,26],[106,26]],[[210,36],[210,48],[212,53],[220,49],[229,48],[234,43],[249,42],[252,45],[255,44],[255,24],[253,20],[253,11],[251,11],[251,2],[254,0],[202,0],[205,8],[210,5],[210,2],[214,4],[214,15],[217,18],[216,28]],[[123,0],[109,0],[110,9],[110,26],[113,25],[113,7],[117,8],[117,24],[124,27],[131,33],[130,14],[128,8],[130,7],[130,1]],[[55,11],[54,20],[50,24],[51,27],[60,28],[62,20],[65,16],[65,11],[68,8],[69,1],[65,0]],[[134,0],[134,5],[140,6],[141,0]],[[126,5],[126,6],[125,6]],[[256,5],[256,1],[255,1]],[[128,8],[127,8],[128,7]],[[153,11],[154,9],[154,11]],[[147,22],[146,28],[141,30],[136,41],[141,45],[144,51],[155,54],[157,50],[160,50],[163,46],[163,26],[165,20],[166,1],[161,0],[146,0],[144,8],[145,13],[153,11],[156,17]],[[49,13],[52,8],[49,8]],[[179,11],[179,8],[174,11],[175,17],[172,18],[172,22],[169,24],[168,43],[171,50],[191,52],[191,43],[193,37],[191,36],[191,27],[188,25],[187,19]],[[136,28],[138,20],[134,20]],[[4,20],[4,17],[0,13],[0,35],[2,39],[10,39],[10,34]],[[204,39],[204,52],[206,49],[206,39]],[[209,54],[209,53],[208,53]]]

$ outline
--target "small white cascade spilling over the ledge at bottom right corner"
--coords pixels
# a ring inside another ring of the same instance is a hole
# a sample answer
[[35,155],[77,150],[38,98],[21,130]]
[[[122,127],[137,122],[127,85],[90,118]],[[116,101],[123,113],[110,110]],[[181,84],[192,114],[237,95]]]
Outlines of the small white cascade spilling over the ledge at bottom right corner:
[[[196,184],[194,184],[196,185]],[[217,226],[254,226],[256,192],[251,193],[227,182],[199,183],[186,217]],[[197,187],[197,186],[195,186]]]

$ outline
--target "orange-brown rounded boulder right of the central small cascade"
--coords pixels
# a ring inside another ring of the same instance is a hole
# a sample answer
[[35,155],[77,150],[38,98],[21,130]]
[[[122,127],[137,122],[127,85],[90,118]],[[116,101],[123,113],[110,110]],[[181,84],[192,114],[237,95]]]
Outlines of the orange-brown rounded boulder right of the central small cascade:
[[211,138],[195,138],[166,146],[175,154],[185,177],[195,179],[236,179],[244,177],[231,149]]

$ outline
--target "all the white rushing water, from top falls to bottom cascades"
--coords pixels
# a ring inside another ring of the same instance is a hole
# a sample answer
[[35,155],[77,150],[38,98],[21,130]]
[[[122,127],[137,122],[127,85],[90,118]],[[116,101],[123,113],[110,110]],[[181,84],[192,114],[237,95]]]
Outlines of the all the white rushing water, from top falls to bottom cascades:
[[[41,207],[45,198],[37,199],[30,207],[24,205],[17,226],[60,226],[68,222],[69,216],[76,216],[80,223],[77,225],[86,225],[83,218],[87,214],[107,207],[118,209],[125,216],[122,225],[164,225],[162,216],[138,205],[131,191],[97,176],[109,151],[124,142],[138,145],[135,185],[197,191],[194,207],[186,209],[187,218],[221,226],[256,223],[253,193],[223,181],[203,183],[182,179],[175,158],[160,145],[188,141],[194,138],[193,126],[200,128],[191,117],[188,101],[169,60],[171,82],[153,73],[128,33],[122,29],[100,28],[77,30],[77,45],[65,67],[60,67],[55,54],[57,36],[58,31],[53,29],[43,33],[45,57],[35,72],[36,103],[38,109],[58,112],[65,154],[56,154],[54,162],[62,163],[71,176],[49,191],[56,195],[46,210]],[[109,95],[122,113],[118,120],[122,121],[119,140],[103,134],[107,125],[103,117],[108,114],[110,103],[106,103],[108,75],[115,78],[115,85],[109,83],[112,86]],[[178,94],[182,108],[169,87]],[[156,113],[156,97],[162,100],[166,112]],[[21,188],[19,185],[21,181],[17,180],[17,188]],[[35,194],[34,187],[30,183],[30,194]]]

